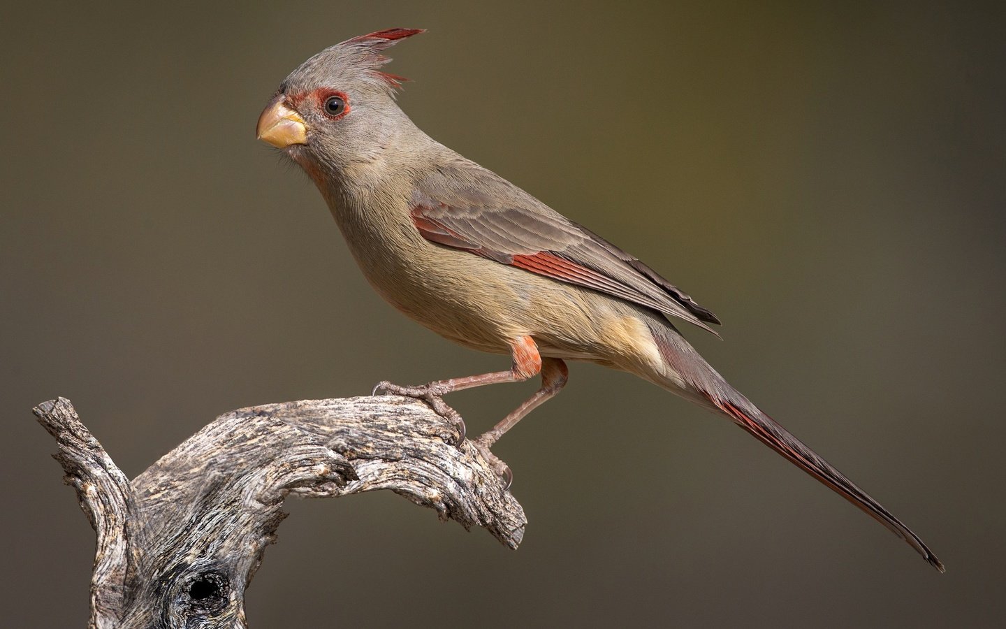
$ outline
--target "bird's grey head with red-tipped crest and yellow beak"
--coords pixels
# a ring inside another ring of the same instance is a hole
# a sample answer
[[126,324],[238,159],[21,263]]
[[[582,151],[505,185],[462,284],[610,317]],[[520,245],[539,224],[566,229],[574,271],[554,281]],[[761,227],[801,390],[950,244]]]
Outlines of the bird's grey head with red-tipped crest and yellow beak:
[[256,134],[313,178],[338,177],[380,159],[414,126],[394,102],[402,76],[381,71],[381,51],[424,32],[390,28],[347,39],[301,64],[266,106]]

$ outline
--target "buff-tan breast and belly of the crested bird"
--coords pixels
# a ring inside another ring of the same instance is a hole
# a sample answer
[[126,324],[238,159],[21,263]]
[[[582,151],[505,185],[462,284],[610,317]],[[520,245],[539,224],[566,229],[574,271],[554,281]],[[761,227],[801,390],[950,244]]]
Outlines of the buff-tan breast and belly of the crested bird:
[[333,206],[370,285],[409,318],[462,345],[508,353],[529,335],[543,355],[622,368],[659,361],[639,309],[420,234],[407,204]]

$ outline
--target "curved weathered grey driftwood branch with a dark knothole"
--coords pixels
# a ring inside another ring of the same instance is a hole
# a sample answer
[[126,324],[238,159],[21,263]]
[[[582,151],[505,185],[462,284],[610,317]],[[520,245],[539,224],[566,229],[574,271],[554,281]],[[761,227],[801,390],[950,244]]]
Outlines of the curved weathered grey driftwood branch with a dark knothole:
[[129,481],[59,398],[34,410],[98,533],[89,627],[244,627],[287,494],[390,489],[515,548],[520,504],[422,402],[292,402],[220,416]]

